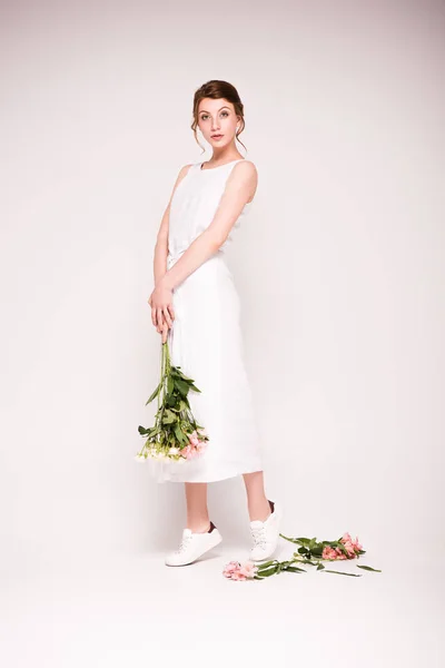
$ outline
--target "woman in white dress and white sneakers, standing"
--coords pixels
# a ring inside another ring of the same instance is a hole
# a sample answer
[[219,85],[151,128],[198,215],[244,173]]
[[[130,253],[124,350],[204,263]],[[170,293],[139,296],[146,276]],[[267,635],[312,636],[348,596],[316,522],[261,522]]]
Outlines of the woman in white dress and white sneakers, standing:
[[154,462],[159,482],[185,482],[187,528],[167,566],[191,563],[221,541],[209,519],[207,484],[243,475],[253,561],[276,549],[281,509],[264,489],[260,438],[246,375],[240,302],[225,249],[253,202],[255,165],[243,158],[236,140],[244,129],[244,106],[237,90],[212,80],[195,94],[195,132],[212,147],[206,163],[184,166],[160,224],[155,247],[155,289],[148,303],[151,320],[169,341],[172,364],[194,379],[190,410],[209,441],[198,458]]

